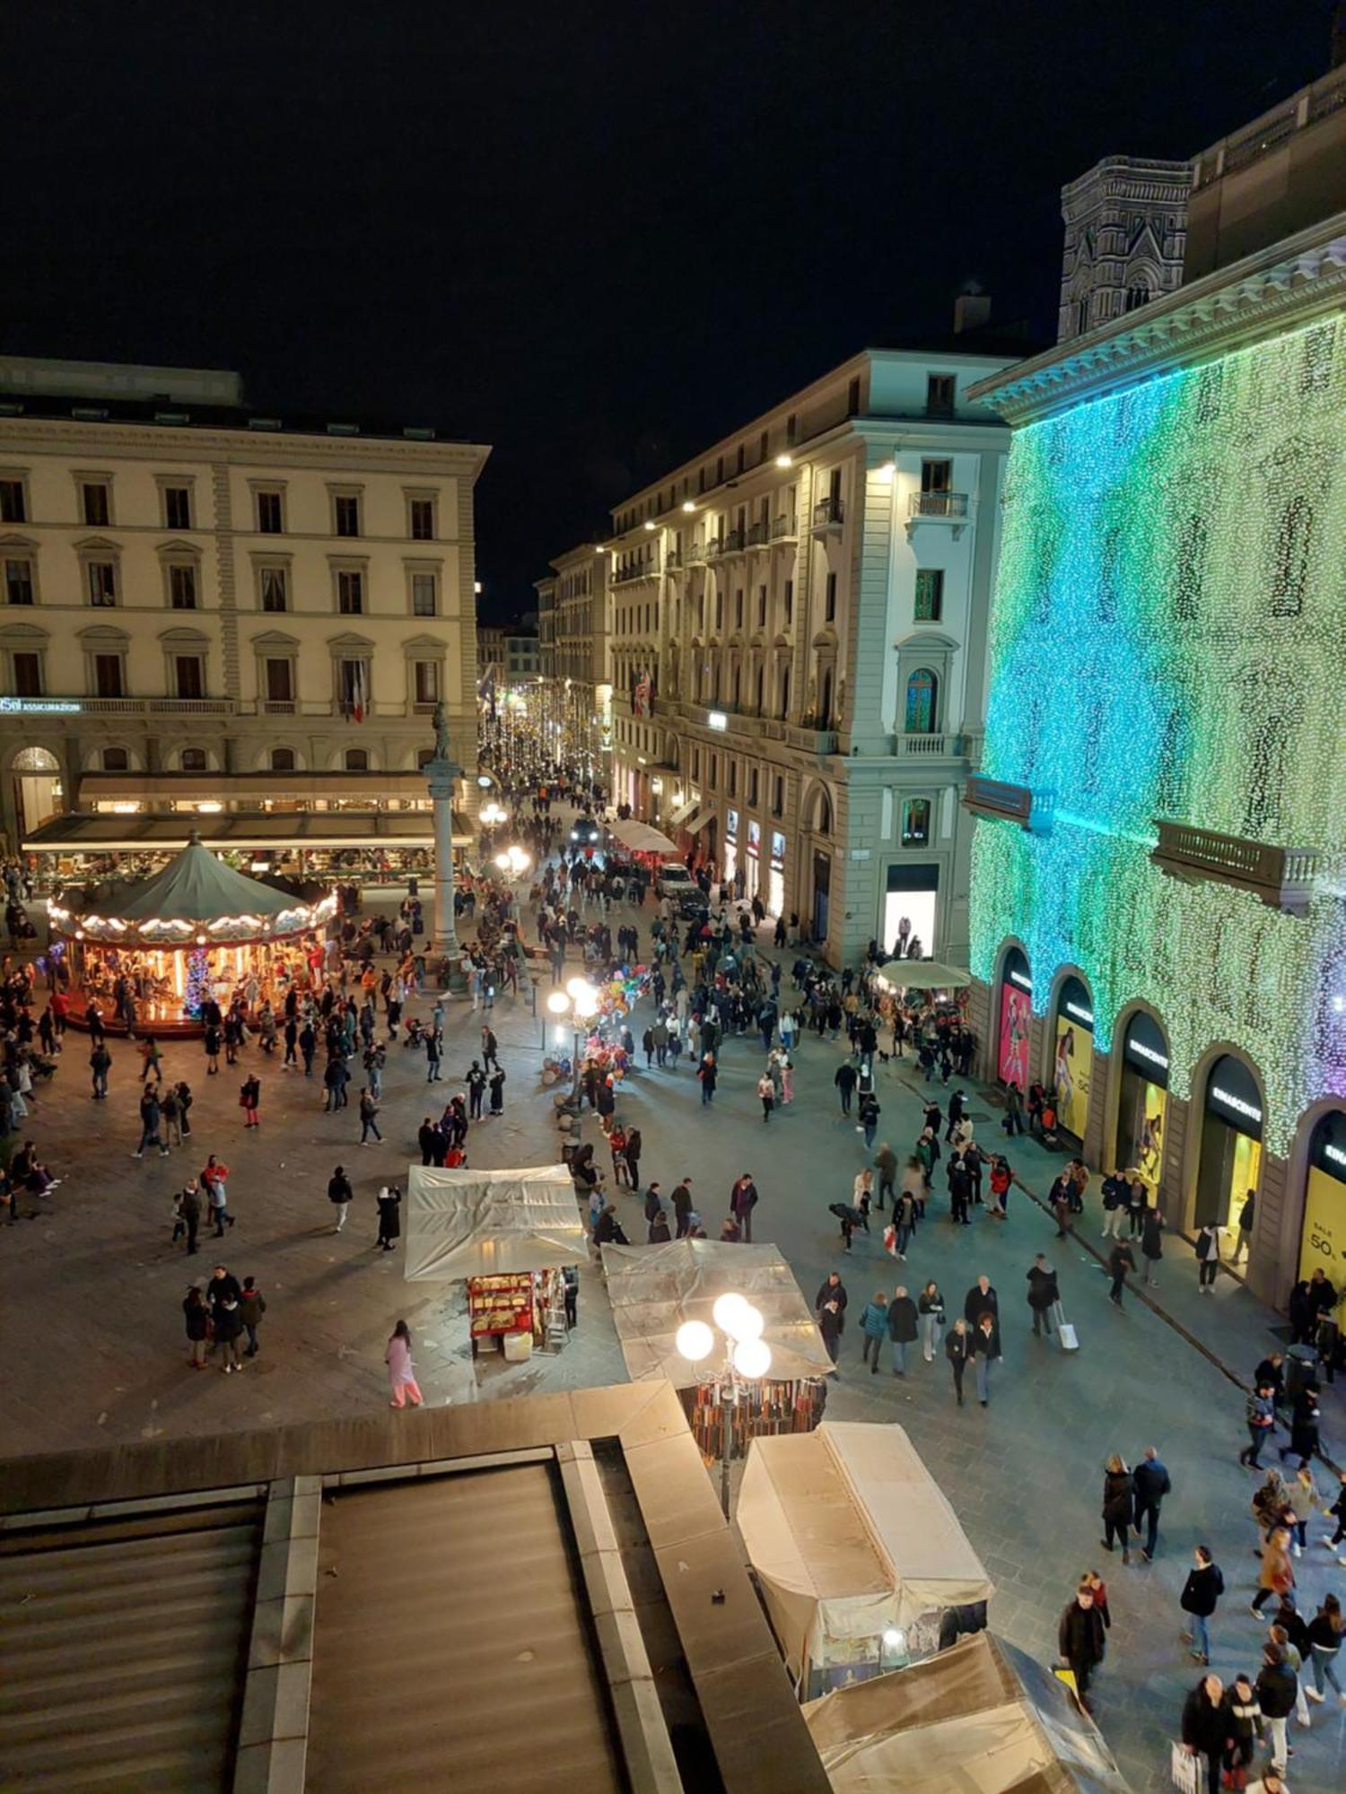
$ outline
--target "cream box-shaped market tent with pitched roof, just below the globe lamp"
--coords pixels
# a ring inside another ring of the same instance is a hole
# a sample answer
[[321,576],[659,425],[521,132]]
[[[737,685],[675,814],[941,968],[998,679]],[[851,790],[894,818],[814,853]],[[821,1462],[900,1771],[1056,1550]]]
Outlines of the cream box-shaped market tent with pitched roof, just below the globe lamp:
[[933,1650],[946,1609],[994,1593],[901,1426],[754,1441],[738,1525],[806,1699]]

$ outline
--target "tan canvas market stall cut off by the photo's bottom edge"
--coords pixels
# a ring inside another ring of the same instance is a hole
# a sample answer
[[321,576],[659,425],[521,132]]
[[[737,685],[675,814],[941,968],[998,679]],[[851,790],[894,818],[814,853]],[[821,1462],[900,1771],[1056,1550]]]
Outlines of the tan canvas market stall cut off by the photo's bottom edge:
[[1057,1677],[991,1633],[804,1708],[835,1794],[1129,1794]]

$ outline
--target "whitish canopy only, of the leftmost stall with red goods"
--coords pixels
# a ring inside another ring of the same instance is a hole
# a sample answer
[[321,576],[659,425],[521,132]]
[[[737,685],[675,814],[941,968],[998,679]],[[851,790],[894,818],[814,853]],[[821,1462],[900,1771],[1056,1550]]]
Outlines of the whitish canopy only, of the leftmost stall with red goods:
[[407,1283],[553,1270],[589,1254],[574,1182],[564,1164],[522,1171],[413,1164],[406,1234]]

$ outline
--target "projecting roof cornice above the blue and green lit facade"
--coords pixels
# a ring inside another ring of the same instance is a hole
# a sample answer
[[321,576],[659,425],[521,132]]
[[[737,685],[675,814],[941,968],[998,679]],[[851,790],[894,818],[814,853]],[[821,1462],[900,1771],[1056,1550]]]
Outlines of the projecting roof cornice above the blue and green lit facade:
[[1346,307],[1346,213],[1016,362],[967,396],[1023,427]]

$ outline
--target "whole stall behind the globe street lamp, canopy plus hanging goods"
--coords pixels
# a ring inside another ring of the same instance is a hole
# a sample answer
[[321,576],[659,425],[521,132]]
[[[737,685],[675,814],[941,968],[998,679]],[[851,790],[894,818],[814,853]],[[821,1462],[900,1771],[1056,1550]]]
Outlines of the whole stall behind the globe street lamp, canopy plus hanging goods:
[[[666,1378],[682,1396],[702,1455],[730,1457],[770,1433],[808,1432],[822,1419],[826,1378],[833,1372],[813,1308],[774,1245],[721,1240],[671,1240],[668,1245],[605,1245],[603,1272],[621,1354],[632,1381]],[[772,1374],[738,1392],[729,1414],[720,1405],[714,1367],[678,1353],[684,1320],[712,1320],[716,1297],[736,1292],[763,1315]]]

